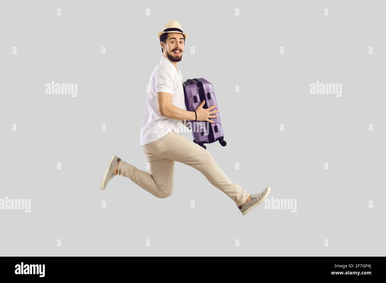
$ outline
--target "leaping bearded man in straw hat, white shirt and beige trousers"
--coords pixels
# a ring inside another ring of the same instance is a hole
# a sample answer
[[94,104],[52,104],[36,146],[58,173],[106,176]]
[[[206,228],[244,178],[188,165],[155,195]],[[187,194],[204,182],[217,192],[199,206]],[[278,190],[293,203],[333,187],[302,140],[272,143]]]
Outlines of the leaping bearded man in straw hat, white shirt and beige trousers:
[[181,136],[178,131],[180,120],[213,123],[210,119],[218,117],[213,115],[218,110],[212,111],[217,105],[204,109],[205,101],[196,111],[186,111],[182,75],[177,63],[182,60],[188,35],[175,20],[167,22],[163,31],[157,33],[163,55],[150,77],[140,137],[151,174],[113,154],[102,178],[101,189],[105,189],[114,176],[122,175],[157,198],[167,198],[173,193],[174,162],[177,161],[200,171],[245,215],[268,197],[271,188],[267,187],[259,194],[248,194],[225,175],[209,151]]

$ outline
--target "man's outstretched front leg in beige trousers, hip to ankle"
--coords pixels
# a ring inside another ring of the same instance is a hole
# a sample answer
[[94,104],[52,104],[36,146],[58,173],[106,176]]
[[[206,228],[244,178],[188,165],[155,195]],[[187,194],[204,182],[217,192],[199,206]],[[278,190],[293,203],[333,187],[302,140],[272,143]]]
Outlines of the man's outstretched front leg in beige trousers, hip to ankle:
[[164,139],[158,156],[178,161],[200,171],[208,181],[229,196],[237,206],[247,201],[250,194],[239,184],[233,183],[228,176],[218,167],[212,154],[193,141],[180,136],[173,131]]

